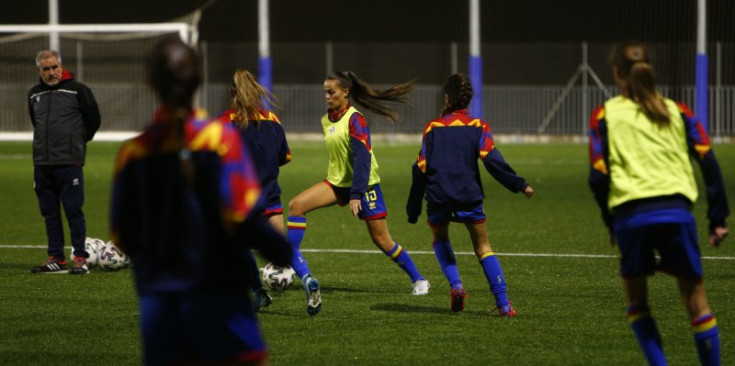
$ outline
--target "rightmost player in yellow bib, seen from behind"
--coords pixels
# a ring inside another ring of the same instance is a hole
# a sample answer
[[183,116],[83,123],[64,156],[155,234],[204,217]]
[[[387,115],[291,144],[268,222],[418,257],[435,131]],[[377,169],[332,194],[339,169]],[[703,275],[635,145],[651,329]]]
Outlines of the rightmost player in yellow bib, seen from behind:
[[[617,45],[612,71],[621,95],[590,119],[590,176],[611,242],[622,255],[628,320],[651,365],[665,365],[661,336],[648,305],[647,276],[676,277],[703,365],[720,364],[719,331],[707,303],[697,227],[697,199],[690,156],[707,185],[709,244],[728,233],[722,174],[702,124],[683,104],[656,90],[648,52],[639,42]],[[658,253],[657,260],[654,253]]]

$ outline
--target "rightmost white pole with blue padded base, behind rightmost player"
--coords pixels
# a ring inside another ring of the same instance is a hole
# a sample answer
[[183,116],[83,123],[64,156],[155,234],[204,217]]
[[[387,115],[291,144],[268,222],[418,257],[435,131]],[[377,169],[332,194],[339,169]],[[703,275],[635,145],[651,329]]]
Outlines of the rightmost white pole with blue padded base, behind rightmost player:
[[709,131],[709,87],[707,76],[707,0],[697,0],[697,56],[695,59],[695,84],[696,93],[694,101],[694,114],[705,131]]

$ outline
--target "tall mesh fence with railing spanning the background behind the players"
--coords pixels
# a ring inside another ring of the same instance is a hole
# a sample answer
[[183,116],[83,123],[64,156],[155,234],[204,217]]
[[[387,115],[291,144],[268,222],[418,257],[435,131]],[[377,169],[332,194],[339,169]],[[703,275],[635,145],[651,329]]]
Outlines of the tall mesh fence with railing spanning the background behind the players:
[[[145,54],[159,35],[87,39],[62,35],[63,64],[90,86],[103,117],[102,131],[135,131],[149,120],[155,98],[144,77]],[[694,44],[649,43],[664,95],[694,103]],[[593,108],[616,94],[607,57],[610,43],[486,43],[483,111],[495,133],[583,135]],[[48,37],[0,38],[0,131],[27,132],[27,92],[38,82],[34,56]],[[210,114],[228,107],[237,68],[257,72],[257,44],[200,42],[205,81],[200,104]],[[274,43],[273,91],[288,132],[320,132],[324,76],[353,70],[376,88],[417,80],[411,107],[392,124],[370,115],[373,132],[420,133],[441,109],[440,89],[453,72],[466,72],[462,43]],[[709,45],[709,125],[713,136],[735,135],[735,44]],[[657,59],[666,62],[656,62]]]

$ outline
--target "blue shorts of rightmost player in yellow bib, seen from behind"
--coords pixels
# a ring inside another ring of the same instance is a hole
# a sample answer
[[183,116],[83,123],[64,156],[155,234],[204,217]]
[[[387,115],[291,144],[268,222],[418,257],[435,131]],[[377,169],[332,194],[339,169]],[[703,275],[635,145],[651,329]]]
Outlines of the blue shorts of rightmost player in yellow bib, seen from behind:
[[657,270],[682,278],[702,277],[697,225],[689,211],[657,210],[616,218],[613,232],[623,277],[648,276]]

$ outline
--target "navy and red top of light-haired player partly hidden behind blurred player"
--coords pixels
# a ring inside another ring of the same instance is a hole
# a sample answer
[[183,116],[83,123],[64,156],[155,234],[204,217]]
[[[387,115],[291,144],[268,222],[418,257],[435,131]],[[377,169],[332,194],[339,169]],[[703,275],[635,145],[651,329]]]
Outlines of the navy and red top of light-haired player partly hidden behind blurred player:
[[[232,123],[235,111],[228,109],[219,120]],[[253,156],[255,170],[263,189],[264,204],[280,202],[281,187],[278,174],[281,166],[291,161],[291,150],[281,121],[271,111],[259,110],[257,120],[248,121],[247,127],[237,126],[240,136]]]

